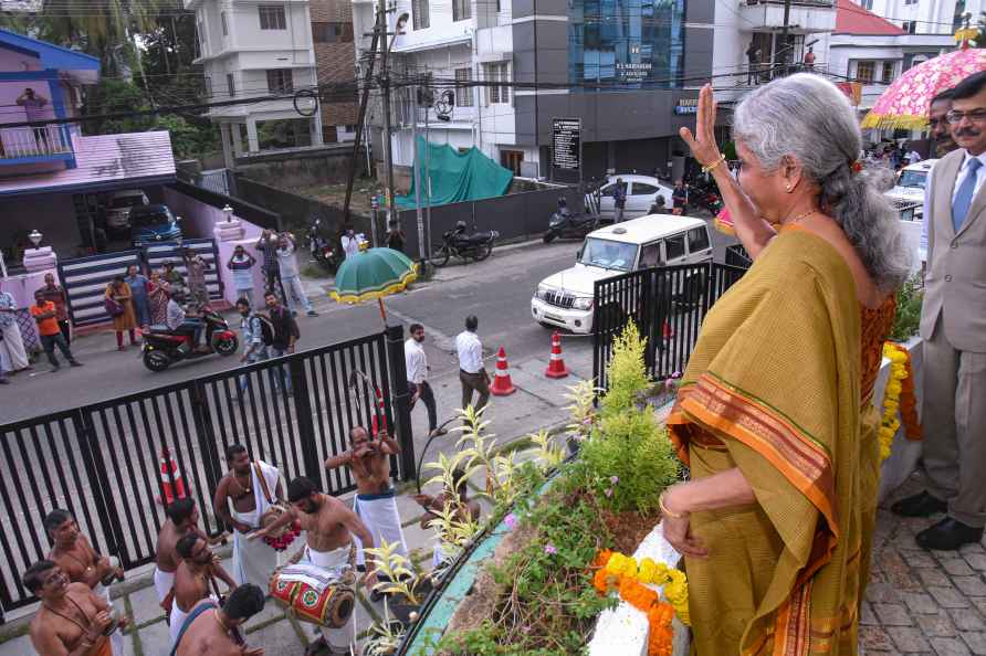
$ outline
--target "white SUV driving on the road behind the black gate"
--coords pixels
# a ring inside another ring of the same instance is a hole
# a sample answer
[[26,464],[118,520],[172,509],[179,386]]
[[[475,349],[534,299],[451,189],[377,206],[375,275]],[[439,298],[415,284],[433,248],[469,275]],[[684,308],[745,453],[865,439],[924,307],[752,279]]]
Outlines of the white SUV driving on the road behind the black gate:
[[702,219],[650,214],[590,232],[575,266],[543,279],[531,298],[542,326],[592,331],[596,281],[653,266],[712,261],[709,226]]

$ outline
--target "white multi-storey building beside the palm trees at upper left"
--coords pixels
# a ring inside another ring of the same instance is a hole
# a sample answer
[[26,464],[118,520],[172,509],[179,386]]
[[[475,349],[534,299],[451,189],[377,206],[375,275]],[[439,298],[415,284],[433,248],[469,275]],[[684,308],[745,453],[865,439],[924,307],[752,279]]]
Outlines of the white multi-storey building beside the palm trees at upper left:
[[[318,146],[322,120],[295,109],[291,93],[318,84],[308,0],[185,0],[196,12],[199,57],[213,102],[284,95],[284,99],[213,107],[228,166],[263,149]],[[311,113],[311,100],[298,103]]]

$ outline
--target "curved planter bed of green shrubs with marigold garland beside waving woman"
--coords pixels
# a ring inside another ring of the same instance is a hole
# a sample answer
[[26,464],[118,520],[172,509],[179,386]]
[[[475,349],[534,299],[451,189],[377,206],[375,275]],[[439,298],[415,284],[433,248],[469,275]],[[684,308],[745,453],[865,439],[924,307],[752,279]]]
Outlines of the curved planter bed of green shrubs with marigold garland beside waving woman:
[[455,535],[454,501],[447,505],[437,523],[452,564],[396,653],[586,653],[597,616],[629,600],[657,627],[646,653],[672,655],[683,629],[673,617],[688,609],[676,559],[622,557],[647,542],[659,521],[658,496],[681,476],[653,406],[641,403],[652,390],[633,328],[615,343],[609,380],[598,411],[590,383],[573,388],[568,436],[578,457],[565,462],[544,433],[532,436],[534,461],[494,456],[485,423],[465,413],[460,451],[431,464],[441,472],[432,480],[448,490],[457,483],[450,472],[484,470],[493,517],[483,531]]

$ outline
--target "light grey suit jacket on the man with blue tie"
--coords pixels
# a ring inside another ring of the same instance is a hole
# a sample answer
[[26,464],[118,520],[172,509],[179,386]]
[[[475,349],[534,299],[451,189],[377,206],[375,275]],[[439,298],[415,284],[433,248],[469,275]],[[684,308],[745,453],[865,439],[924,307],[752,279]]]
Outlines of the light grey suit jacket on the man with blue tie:
[[961,351],[986,352],[986,184],[979,188],[958,232],[952,224],[952,192],[965,149],[934,169],[927,190],[927,273],[921,337],[931,339],[944,313],[945,339]]

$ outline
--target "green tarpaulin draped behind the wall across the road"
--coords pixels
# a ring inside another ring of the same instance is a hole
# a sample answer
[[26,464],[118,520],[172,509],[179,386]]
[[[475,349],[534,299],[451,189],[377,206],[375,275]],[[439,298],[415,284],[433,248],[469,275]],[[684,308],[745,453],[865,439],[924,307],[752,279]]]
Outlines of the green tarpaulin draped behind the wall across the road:
[[[424,177],[426,147],[431,173],[432,207],[503,195],[514,178],[510,169],[503,168],[476,148],[459,152],[448,144],[428,142],[426,146],[424,139],[418,137],[422,207],[428,204]],[[398,208],[405,210],[417,207],[413,180],[411,180],[411,191],[407,195],[396,197],[395,202]]]

